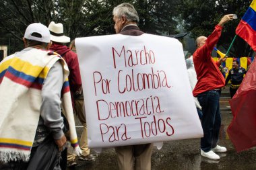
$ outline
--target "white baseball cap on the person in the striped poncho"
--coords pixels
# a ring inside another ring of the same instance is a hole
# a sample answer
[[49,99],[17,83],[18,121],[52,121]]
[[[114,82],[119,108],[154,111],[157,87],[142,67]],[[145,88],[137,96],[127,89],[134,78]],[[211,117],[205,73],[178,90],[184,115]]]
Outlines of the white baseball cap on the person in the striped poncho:
[[[38,35],[35,35],[33,33],[37,33]],[[46,43],[51,42],[50,32],[48,28],[40,23],[30,24],[26,28],[24,38],[28,40],[38,41],[38,42],[46,42]]]

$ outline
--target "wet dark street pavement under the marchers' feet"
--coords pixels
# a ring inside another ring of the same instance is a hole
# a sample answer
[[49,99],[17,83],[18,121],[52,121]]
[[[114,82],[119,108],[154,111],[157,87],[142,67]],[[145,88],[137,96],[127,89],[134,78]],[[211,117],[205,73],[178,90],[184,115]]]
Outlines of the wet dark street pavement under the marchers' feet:
[[[201,157],[199,153],[199,139],[176,140],[164,142],[164,146],[159,151],[154,148],[154,152],[152,154],[152,170],[256,169],[256,148],[251,148],[249,151],[236,153],[234,146],[228,139],[226,128],[232,120],[228,99],[229,93],[227,88],[222,91],[222,98],[220,100],[222,127],[220,131],[219,144],[226,146],[228,152],[218,154],[221,157],[219,161],[212,161],[210,159]],[[78,133],[81,131],[80,129],[81,128],[77,128]],[[79,166],[70,169],[117,169],[116,155],[113,148],[109,148],[99,155],[96,155],[96,159],[95,161],[92,161],[92,163],[85,163],[82,161],[79,161],[78,163]]]

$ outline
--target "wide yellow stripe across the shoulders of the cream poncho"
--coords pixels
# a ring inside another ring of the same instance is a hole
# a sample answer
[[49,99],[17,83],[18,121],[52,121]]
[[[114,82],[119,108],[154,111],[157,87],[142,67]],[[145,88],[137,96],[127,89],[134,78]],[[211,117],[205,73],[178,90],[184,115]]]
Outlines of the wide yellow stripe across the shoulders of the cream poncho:
[[49,72],[48,67],[40,67],[36,65],[32,65],[30,62],[26,62],[24,60],[21,60],[20,58],[13,57],[10,60],[7,60],[1,64],[0,67],[0,73],[1,71],[7,69],[8,66],[13,67],[13,69],[20,71],[22,73],[25,73],[26,75],[31,75],[33,77],[38,77],[38,74],[40,73],[39,77],[45,79],[47,76],[47,73]]

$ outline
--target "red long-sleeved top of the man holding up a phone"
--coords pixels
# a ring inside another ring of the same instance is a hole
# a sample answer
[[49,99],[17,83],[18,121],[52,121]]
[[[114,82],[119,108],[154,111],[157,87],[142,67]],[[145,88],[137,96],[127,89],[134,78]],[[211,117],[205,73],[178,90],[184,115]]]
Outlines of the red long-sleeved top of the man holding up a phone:
[[215,26],[214,32],[207,37],[203,46],[193,54],[193,62],[197,73],[197,84],[193,90],[196,97],[199,93],[224,87],[225,79],[218,69],[219,65],[212,59],[212,50],[217,44],[222,32],[222,26]]

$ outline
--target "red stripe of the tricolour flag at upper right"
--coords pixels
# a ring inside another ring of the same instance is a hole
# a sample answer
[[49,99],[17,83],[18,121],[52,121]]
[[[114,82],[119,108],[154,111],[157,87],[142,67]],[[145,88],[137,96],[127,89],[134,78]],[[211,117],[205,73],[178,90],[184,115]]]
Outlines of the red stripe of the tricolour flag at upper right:
[[241,20],[236,28],[236,34],[243,38],[256,51],[256,32],[247,22]]

